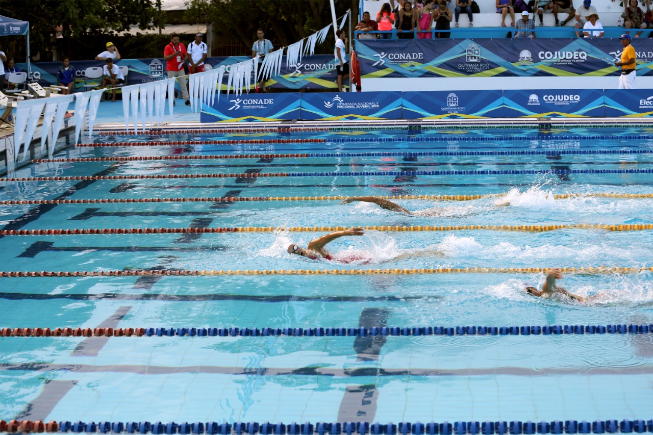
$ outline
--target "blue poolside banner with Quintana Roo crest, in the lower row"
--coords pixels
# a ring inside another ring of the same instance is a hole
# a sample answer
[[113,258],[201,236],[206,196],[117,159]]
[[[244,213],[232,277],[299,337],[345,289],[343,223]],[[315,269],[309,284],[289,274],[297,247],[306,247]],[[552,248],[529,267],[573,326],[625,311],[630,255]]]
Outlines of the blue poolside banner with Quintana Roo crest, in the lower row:
[[[403,92],[404,119],[502,118],[502,91]],[[302,106],[303,108],[303,106]]]

